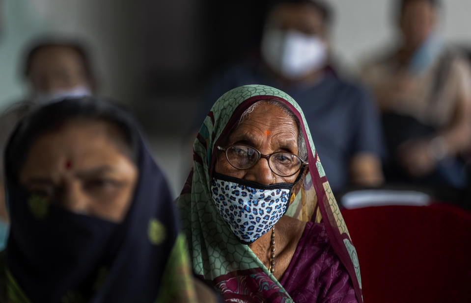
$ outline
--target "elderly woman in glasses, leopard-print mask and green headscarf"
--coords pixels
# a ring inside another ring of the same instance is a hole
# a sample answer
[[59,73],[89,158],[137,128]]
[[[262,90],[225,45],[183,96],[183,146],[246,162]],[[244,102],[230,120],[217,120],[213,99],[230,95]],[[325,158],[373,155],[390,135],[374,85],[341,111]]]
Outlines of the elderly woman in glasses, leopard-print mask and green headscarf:
[[247,85],[216,101],[178,204],[194,272],[227,302],[362,302],[355,248],[287,94]]

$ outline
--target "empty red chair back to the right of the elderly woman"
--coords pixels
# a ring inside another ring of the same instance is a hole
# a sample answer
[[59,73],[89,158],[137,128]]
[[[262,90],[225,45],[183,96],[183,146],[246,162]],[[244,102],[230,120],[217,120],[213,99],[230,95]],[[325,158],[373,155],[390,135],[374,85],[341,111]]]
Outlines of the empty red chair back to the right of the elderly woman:
[[365,303],[471,303],[471,213],[445,204],[342,209]]

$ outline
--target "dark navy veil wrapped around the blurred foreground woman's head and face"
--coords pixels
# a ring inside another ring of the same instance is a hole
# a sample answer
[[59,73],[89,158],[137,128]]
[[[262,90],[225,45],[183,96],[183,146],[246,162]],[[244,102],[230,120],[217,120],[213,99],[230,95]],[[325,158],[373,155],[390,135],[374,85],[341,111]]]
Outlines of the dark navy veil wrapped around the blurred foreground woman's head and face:
[[[101,119],[125,134],[139,169],[121,223],[72,213],[26,192],[16,176],[33,140],[71,118]],[[51,122],[54,121],[54,122]],[[184,236],[166,179],[122,107],[95,98],[55,102],[32,112],[5,152],[11,232],[6,248],[13,302],[194,302]]]

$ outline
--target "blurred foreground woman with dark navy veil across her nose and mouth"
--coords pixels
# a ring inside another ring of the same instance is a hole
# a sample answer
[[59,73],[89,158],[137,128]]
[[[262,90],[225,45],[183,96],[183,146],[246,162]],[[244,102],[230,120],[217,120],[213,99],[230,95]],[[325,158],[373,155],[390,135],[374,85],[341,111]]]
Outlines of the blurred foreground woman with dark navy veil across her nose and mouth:
[[93,98],[39,108],[5,160],[1,302],[196,301],[166,180],[126,111]]

